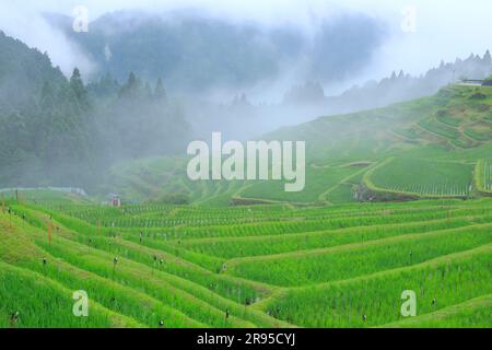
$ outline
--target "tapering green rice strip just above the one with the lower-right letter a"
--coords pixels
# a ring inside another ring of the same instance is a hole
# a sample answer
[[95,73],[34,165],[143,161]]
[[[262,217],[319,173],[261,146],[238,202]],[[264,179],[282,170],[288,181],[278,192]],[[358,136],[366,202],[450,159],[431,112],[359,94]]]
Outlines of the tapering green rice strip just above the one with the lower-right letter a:
[[476,225],[353,246],[237,259],[229,264],[229,273],[274,285],[301,287],[419,264],[490,242],[492,225]]

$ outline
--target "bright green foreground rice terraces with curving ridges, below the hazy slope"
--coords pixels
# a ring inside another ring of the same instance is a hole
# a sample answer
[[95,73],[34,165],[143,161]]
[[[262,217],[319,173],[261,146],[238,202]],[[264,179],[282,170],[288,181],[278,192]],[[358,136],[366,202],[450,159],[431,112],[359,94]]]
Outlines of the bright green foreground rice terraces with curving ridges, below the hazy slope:
[[[16,327],[492,326],[490,199],[7,206],[0,327],[13,311]],[[72,315],[78,290],[89,318]],[[405,290],[417,293],[411,319]]]

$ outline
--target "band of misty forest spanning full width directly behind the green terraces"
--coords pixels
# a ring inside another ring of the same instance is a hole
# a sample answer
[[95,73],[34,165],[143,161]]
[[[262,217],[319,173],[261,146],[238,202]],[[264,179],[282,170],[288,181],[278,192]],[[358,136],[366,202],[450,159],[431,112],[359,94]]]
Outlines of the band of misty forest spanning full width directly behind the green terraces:
[[[227,103],[210,95],[172,93],[159,75],[132,71],[118,80],[110,72],[70,79],[49,56],[0,35],[0,128],[4,186],[63,185],[91,188],[120,161],[179,155],[192,139],[222,131],[229,139],[251,139],[279,127],[321,115],[351,113],[435,93],[458,78],[492,73],[489,51],[442,62],[419,78],[400,72],[339,96],[326,96],[318,81],[286,90],[280,103],[255,103],[246,93]],[[16,176],[13,176],[16,174]]]

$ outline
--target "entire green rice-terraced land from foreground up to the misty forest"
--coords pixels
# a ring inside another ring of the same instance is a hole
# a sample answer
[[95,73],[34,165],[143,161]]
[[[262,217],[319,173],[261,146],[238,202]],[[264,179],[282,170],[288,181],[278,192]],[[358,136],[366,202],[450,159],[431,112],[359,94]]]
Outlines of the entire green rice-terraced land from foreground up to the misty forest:
[[120,164],[98,197],[4,191],[0,327],[490,328],[491,98],[450,86],[269,135],[308,141],[302,192],[194,183],[180,158]]

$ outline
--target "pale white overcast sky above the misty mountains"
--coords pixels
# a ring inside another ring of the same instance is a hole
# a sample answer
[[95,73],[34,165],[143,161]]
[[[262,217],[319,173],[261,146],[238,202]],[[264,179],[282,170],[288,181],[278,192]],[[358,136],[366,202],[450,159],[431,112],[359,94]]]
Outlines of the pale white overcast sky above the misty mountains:
[[[470,52],[482,55],[492,47],[490,0],[0,0],[0,30],[47,50],[63,71],[74,65],[87,71],[91,62],[84,55],[38,15],[42,12],[72,15],[73,8],[81,4],[89,9],[91,21],[116,10],[161,13],[199,8],[231,21],[256,21],[270,26],[291,22],[306,31],[316,19],[347,11],[362,12],[385,22],[391,35],[361,79],[380,78],[399,69],[419,74],[441,59],[452,61]],[[406,7],[417,11],[414,33],[401,28]]]

